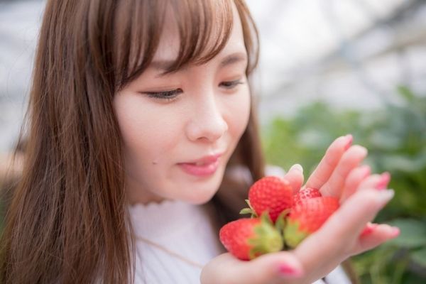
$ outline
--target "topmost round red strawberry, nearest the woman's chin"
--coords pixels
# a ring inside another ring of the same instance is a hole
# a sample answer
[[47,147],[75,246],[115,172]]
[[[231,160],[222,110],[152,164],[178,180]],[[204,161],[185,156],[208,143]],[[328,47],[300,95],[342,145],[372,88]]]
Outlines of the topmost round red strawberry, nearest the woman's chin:
[[293,205],[293,189],[288,180],[274,176],[261,178],[249,190],[249,205],[257,216],[268,211],[273,222]]

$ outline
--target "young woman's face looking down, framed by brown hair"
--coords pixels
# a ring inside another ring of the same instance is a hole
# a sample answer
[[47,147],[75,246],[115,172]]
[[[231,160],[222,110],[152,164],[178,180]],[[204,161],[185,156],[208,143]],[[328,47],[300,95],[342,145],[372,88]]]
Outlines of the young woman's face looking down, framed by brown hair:
[[229,41],[215,58],[161,76],[178,55],[177,35],[166,21],[153,64],[114,98],[131,204],[209,201],[249,121],[247,53],[236,8]]

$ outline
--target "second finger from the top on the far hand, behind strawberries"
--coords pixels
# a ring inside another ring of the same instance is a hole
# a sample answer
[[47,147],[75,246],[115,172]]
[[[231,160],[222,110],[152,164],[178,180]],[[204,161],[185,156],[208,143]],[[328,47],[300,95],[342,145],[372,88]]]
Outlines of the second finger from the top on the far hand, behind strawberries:
[[340,197],[347,176],[351,170],[356,168],[359,163],[366,158],[366,155],[366,148],[359,145],[351,146],[348,151],[342,155],[342,158],[339,160],[329,180],[320,188],[321,194],[324,196]]

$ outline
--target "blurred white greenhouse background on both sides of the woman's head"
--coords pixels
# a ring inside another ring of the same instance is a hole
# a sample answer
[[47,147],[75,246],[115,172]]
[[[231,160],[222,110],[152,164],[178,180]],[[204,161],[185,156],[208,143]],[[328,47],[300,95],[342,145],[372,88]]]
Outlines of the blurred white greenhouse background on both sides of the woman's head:
[[[426,94],[425,0],[246,0],[261,35],[261,122],[322,99],[337,108],[398,103],[395,87]],[[26,108],[45,1],[0,0],[0,152]]]

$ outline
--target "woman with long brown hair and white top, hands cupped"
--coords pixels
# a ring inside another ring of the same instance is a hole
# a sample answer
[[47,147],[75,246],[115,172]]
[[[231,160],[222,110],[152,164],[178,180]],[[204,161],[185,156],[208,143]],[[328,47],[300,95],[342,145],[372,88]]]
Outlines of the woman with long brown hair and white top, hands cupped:
[[[394,237],[379,225],[356,238],[392,192],[373,190],[381,176],[361,174],[365,148],[342,136],[307,180],[342,200],[354,192],[326,229],[249,263],[223,253],[217,229],[264,175],[248,81],[257,57],[240,0],[48,1],[2,282],[310,283]],[[300,167],[286,178],[300,189]]]

